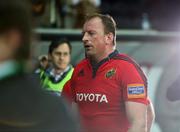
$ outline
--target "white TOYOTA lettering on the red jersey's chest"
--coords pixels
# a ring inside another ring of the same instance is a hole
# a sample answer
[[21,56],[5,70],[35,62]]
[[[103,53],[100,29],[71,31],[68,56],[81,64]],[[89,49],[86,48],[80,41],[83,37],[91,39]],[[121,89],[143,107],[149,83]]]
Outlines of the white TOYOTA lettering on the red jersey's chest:
[[108,99],[105,94],[95,93],[77,93],[77,102],[97,102],[97,103],[108,103]]

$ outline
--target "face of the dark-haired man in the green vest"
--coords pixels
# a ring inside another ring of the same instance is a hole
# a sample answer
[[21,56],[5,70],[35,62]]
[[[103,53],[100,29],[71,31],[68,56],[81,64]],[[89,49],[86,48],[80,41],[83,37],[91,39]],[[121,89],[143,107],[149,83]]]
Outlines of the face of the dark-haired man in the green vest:
[[66,43],[59,45],[50,54],[54,67],[58,70],[65,70],[70,63],[70,49]]

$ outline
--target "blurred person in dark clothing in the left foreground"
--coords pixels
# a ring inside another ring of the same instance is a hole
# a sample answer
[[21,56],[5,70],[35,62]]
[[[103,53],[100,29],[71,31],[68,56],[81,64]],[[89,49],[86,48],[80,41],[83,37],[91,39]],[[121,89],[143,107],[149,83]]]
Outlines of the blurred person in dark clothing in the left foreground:
[[31,13],[26,2],[0,1],[0,131],[77,131],[63,98],[44,92],[28,73]]

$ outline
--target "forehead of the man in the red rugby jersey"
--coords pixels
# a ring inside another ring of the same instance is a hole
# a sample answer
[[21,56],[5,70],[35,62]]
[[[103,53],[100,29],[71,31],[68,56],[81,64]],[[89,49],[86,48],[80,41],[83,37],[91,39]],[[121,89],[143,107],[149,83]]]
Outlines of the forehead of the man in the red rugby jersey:
[[88,30],[104,30],[102,20],[99,17],[94,17],[86,21],[83,26],[83,31]]

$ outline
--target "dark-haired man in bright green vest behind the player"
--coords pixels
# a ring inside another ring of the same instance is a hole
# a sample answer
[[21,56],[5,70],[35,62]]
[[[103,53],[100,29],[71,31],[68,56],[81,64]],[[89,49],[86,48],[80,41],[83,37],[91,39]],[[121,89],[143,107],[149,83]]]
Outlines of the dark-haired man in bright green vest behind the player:
[[70,64],[71,50],[71,44],[67,39],[52,41],[48,53],[52,66],[40,73],[43,88],[58,96],[74,70]]

